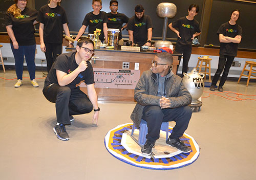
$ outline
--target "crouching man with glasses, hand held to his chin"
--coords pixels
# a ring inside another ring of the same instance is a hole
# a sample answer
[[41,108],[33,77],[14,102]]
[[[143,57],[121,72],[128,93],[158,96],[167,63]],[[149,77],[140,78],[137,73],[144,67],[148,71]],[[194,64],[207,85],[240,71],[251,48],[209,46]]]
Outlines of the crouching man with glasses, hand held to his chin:
[[[57,138],[69,140],[65,126],[74,120],[72,115],[90,113],[94,109],[93,122],[98,125],[99,110],[94,88],[94,74],[89,62],[94,54],[91,39],[81,38],[76,52],[61,54],[56,58],[45,80],[42,92],[47,100],[55,103],[57,123],[53,128]],[[88,95],[79,86],[81,81],[87,85]]]

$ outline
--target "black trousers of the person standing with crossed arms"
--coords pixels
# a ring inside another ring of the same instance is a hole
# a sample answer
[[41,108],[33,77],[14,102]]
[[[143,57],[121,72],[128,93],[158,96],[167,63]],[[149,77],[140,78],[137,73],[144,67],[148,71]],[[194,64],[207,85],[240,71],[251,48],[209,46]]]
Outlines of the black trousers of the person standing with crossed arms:
[[224,69],[224,66],[225,66],[225,69],[224,69],[224,72],[221,76],[221,81],[219,83],[219,86],[223,86],[224,83],[226,82],[227,80],[227,76],[228,76],[228,72],[229,72],[229,69],[232,65],[232,62],[234,60],[234,56],[227,56],[227,55],[220,55],[219,57],[219,64],[218,64],[218,70],[216,71],[215,75],[214,75],[214,79],[212,79],[212,82],[211,82],[211,85],[216,85],[219,78],[220,78],[220,75]]

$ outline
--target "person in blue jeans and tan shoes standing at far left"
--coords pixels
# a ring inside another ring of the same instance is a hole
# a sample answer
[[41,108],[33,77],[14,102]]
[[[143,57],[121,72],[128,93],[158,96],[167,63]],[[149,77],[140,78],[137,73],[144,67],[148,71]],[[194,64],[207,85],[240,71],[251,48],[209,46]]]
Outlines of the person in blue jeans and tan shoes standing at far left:
[[11,41],[11,49],[15,59],[17,82],[14,87],[20,87],[23,75],[24,55],[28,66],[31,84],[38,87],[35,80],[35,36],[37,11],[27,8],[26,0],[14,0],[5,16],[5,25]]

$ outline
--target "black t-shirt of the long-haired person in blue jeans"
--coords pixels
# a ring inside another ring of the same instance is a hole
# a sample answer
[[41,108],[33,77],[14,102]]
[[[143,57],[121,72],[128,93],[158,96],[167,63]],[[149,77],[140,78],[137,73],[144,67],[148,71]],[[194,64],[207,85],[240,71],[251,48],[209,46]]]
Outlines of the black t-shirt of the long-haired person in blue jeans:
[[[5,26],[12,25],[12,30],[19,46],[29,46],[35,44],[33,22],[37,17],[37,11],[25,8],[21,16],[13,17],[12,14],[6,13]],[[11,43],[12,40],[10,39]]]

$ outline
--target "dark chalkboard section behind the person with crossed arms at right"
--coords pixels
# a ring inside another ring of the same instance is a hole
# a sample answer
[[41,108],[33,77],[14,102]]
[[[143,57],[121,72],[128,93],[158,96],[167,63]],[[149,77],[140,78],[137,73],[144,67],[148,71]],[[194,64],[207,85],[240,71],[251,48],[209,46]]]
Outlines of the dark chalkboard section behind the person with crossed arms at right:
[[220,45],[219,36],[216,34],[219,27],[230,20],[232,10],[239,9],[241,15],[237,24],[243,29],[243,36],[239,48],[256,49],[256,4],[248,2],[237,2],[231,0],[214,0],[212,2],[207,44]]

